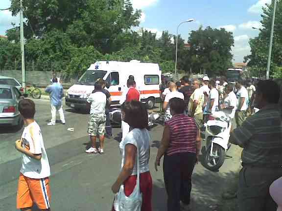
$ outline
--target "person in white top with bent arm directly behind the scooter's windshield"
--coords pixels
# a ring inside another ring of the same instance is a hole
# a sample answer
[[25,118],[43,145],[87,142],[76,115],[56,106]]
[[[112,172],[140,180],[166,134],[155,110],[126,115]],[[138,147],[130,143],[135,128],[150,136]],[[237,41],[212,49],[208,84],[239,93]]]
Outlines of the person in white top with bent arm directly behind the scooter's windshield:
[[227,97],[224,99],[221,109],[232,120],[235,117],[237,107],[237,97],[233,91],[233,86],[227,85],[225,87],[225,93],[227,94]]

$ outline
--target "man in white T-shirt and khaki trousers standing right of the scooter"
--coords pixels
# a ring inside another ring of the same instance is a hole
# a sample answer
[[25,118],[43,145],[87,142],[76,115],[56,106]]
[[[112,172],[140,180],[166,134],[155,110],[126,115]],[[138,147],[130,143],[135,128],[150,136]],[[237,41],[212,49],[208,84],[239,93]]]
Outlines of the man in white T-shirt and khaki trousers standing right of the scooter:
[[243,81],[238,81],[235,84],[235,88],[238,90],[237,96],[237,109],[235,113],[235,121],[237,127],[241,126],[247,118],[247,109],[249,104],[249,95],[247,89],[243,86]]

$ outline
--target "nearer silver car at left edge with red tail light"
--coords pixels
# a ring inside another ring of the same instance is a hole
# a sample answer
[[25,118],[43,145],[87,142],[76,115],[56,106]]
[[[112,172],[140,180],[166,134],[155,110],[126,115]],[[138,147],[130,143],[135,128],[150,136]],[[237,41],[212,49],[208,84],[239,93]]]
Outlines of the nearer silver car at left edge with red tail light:
[[0,125],[23,126],[18,107],[23,98],[16,86],[0,84]]

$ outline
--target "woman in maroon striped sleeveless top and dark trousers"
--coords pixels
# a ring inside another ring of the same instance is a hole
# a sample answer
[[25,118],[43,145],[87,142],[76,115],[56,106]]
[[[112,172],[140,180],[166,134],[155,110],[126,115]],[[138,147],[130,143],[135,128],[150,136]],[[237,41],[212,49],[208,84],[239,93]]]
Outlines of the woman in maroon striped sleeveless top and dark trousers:
[[158,170],[164,155],[164,184],[167,211],[189,208],[191,175],[201,149],[200,130],[194,118],[183,114],[185,102],[180,98],[169,101],[172,118],[165,122],[163,139],[155,161]]

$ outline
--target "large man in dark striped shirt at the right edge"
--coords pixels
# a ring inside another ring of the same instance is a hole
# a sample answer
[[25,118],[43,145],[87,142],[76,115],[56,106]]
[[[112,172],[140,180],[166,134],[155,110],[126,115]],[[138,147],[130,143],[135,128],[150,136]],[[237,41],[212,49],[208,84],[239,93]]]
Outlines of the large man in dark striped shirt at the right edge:
[[243,148],[237,192],[239,211],[276,211],[269,187],[282,176],[280,92],[275,82],[260,81],[255,94],[255,105],[260,110],[230,134],[231,143]]

